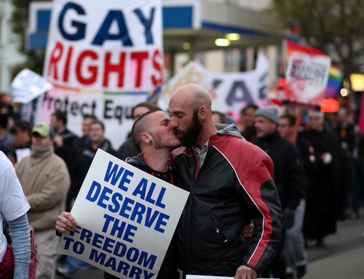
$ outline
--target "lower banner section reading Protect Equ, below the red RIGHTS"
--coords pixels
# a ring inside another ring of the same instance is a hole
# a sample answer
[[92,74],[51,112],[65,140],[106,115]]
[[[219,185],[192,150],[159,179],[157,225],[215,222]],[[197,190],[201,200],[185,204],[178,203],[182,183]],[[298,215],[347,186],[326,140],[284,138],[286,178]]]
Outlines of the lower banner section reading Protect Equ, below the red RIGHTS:
[[41,97],[37,122],[49,122],[56,110],[67,111],[67,127],[82,134],[82,115],[92,114],[105,124],[105,138],[114,149],[118,149],[126,134],[131,130],[132,119],[130,96],[109,95],[102,91],[67,90],[52,88]]

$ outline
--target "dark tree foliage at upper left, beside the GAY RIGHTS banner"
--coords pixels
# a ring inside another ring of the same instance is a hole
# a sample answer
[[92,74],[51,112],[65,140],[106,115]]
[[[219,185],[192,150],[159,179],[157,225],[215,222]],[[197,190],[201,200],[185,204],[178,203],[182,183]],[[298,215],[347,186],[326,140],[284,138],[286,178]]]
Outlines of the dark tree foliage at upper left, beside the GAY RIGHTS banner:
[[[39,0],[37,0],[39,1]],[[47,1],[47,0],[40,0]],[[27,51],[25,49],[26,31],[29,22],[29,3],[30,0],[12,0],[14,11],[11,17],[10,24],[14,33],[21,37],[21,44],[19,51],[26,55],[27,60],[24,64],[18,65],[15,69],[14,74],[17,74],[24,68],[28,68],[38,74],[42,74],[43,62],[44,62],[44,51]]]

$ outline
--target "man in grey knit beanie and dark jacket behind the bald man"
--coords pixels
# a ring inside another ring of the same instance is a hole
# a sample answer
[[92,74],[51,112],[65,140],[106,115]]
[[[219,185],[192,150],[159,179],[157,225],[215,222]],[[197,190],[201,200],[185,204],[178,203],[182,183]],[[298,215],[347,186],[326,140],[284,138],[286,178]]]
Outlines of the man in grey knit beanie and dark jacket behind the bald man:
[[293,227],[295,210],[300,204],[306,187],[306,177],[297,147],[282,137],[278,131],[280,115],[273,106],[259,108],[254,113],[257,140],[253,142],[272,159],[274,181],[283,210],[282,239],[280,250],[261,277],[268,278],[271,271],[275,278],[286,278],[286,259],[284,255],[286,231]]

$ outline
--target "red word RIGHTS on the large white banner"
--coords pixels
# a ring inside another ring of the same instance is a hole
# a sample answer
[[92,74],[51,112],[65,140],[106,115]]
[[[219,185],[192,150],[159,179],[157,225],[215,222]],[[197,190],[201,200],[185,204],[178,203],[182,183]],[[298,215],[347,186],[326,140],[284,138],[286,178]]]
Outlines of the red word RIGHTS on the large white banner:
[[[153,86],[163,82],[163,56],[160,50],[153,52],[108,51],[105,52],[105,58],[103,53],[93,50],[82,50],[81,52],[76,50],[72,45],[65,46],[62,42],[56,42],[51,51],[45,76],[58,86],[78,88],[83,85],[93,86],[100,82],[99,86],[102,87],[100,89],[113,88],[114,90],[125,89],[123,87],[126,73],[132,79],[128,84],[132,84],[135,88],[144,88],[145,84],[149,84],[148,82]],[[118,57],[118,60],[114,59],[116,62],[112,62],[113,57]],[[148,59],[152,59],[152,61],[149,63]],[[131,62],[135,67],[126,69],[126,65],[130,65]],[[116,74],[118,78],[110,78],[113,74]],[[145,78],[150,79],[143,80]],[[62,81],[63,84],[57,84],[57,81]],[[70,84],[70,82],[74,84]]]

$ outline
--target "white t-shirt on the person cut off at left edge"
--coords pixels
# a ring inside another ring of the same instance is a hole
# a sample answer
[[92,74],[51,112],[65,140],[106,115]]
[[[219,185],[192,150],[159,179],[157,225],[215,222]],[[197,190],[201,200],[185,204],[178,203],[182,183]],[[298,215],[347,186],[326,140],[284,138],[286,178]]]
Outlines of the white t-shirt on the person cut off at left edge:
[[3,234],[3,218],[15,220],[30,208],[23,189],[15,173],[13,164],[0,151],[0,262],[3,261],[7,240]]

